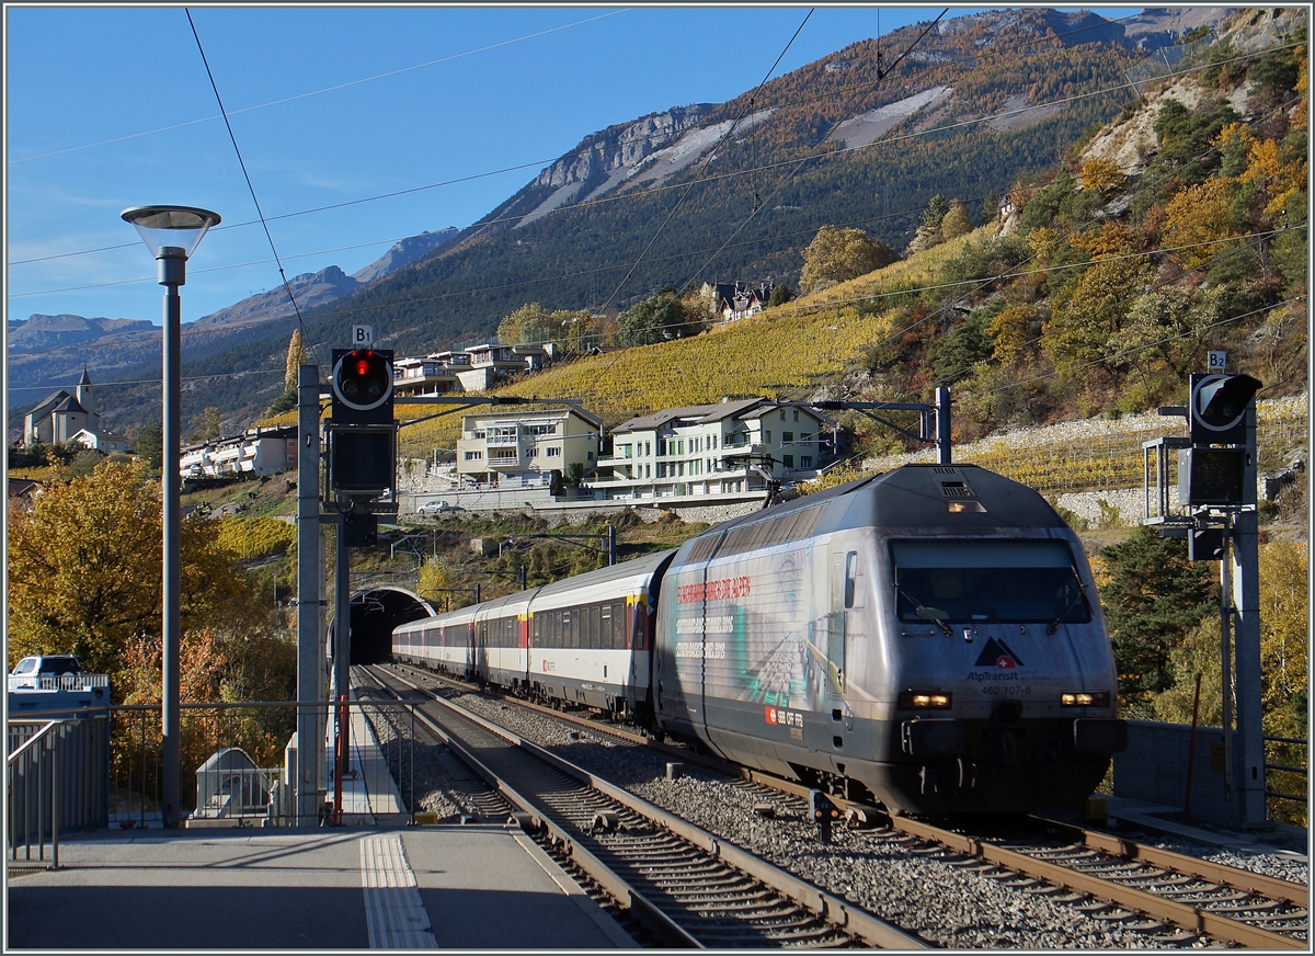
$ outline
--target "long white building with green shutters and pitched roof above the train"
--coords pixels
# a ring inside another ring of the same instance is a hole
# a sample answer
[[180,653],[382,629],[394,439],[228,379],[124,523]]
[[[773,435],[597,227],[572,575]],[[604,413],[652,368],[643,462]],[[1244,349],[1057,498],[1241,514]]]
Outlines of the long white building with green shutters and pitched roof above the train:
[[768,398],[663,409],[613,430],[590,487],[619,498],[763,490],[814,477],[834,429],[807,406]]

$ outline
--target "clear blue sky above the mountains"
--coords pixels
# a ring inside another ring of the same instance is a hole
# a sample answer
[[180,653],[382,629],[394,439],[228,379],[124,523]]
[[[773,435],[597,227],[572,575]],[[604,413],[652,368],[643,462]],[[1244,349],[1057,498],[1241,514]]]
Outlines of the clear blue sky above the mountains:
[[[942,9],[817,7],[772,75],[878,36],[878,20],[884,34]],[[192,20],[291,277],[351,274],[400,238],[468,225],[604,126],[752,89],[807,13],[196,7]],[[158,322],[155,264],[120,220],[130,205],[224,217],[188,264],[184,322],[279,285],[218,114],[184,8],[7,7],[8,317]]]

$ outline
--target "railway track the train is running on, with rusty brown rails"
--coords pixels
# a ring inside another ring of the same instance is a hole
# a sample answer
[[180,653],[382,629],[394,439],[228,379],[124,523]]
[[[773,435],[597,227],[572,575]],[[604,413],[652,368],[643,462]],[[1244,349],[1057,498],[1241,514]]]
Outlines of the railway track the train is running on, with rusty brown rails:
[[[425,672],[426,677],[433,677]],[[448,680],[443,677],[442,680]],[[464,686],[458,682],[459,686]],[[506,698],[515,701],[515,698]],[[631,743],[655,746],[643,735],[600,721],[559,713],[523,701],[555,718],[613,734]],[[698,761],[739,776],[744,785],[806,798],[807,788],[771,775],[747,771],[717,759],[658,746],[668,755]],[[1307,949],[1308,889],[1244,869],[1174,853],[1059,821],[1038,821],[1047,831],[1038,838],[992,838],[938,827],[923,821],[888,818],[876,807],[834,798],[856,823],[881,822],[874,836],[936,846],[980,861],[1010,885],[1030,893],[1051,893],[1085,913],[1120,920],[1165,943],[1199,945],[1211,940],[1265,949]]]

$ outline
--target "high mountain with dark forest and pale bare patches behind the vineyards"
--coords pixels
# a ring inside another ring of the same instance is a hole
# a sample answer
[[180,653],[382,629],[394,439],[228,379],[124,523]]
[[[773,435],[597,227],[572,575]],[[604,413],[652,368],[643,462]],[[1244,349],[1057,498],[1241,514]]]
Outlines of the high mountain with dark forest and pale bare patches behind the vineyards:
[[[1128,104],[1128,76],[1168,72],[1195,46],[1143,50],[1095,14],[1048,11],[947,17],[851,45],[693,110],[681,135],[696,139],[630,141],[643,160],[590,174],[550,213],[558,185],[535,178],[439,251],[310,310],[308,343],[346,342],[364,322],[400,354],[423,354],[490,339],[530,301],[614,316],[664,285],[768,276],[794,285],[802,250],[826,224],[902,251],[932,196],[990,218],[1019,176],[1053,167]],[[590,134],[576,153],[659,130],[660,120]],[[719,129],[727,134],[711,137]],[[714,146],[656,176],[652,150],[696,141]],[[280,370],[268,342],[188,363],[185,414],[213,405],[249,419],[277,396]],[[114,398],[149,414],[145,392]]]

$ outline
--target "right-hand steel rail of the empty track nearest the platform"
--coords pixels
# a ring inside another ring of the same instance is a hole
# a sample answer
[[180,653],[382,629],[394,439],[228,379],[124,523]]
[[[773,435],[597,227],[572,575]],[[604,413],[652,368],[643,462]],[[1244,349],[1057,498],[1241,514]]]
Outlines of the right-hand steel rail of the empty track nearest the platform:
[[[409,686],[425,692],[423,688],[421,688],[417,684],[413,684],[405,677],[397,675],[393,676],[396,676],[397,680],[408,684]],[[484,718],[472,714],[460,707],[459,705],[452,704],[451,701],[447,701],[442,697],[434,696],[434,701],[442,705],[443,707],[447,707],[454,713],[459,714],[463,719],[471,721],[479,725],[480,727],[484,727],[487,731],[502,738],[504,740],[515,747],[522,748],[525,752],[531,753],[540,761],[573,777],[583,785],[589,786],[605,794],[606,797],[609,797],[617,803],[621,803],[633,813],[656,823],[660,827],[664,827],[665,830],[681,838],[686,843],[693,844],[698,849],[704,851],[710,857],[721,860],[722,863],[725,863],[729,867],[732,867],[734,869],[742,871],[743,873],[757,880],[759,882],[764,884],[772,890],[780,893],[781,896],[801,905],[810,913],[825,919],[827,923],[831,923],[842,928],[843,931],[863,939],[863,942],[867,943],[868,945],[874,945],[886,949],[889,948],[920,949],[920,948],[927,948],[928,945],[926,940],[913,934],[905,932],[903,930],[899,930],[892,923],[888,923],[880,919],[878,917],[869,914],[853,906],[852,903],[839,897],[835,897],[834,894],[827,893],[826,890],[822,890],[805,880],[796,877],[793,873],[788,873],[786,871],[780,869],[778,867],[773,867],[772,864],[760,860],[759,857],[740,849],[739,847],[735,847],[734,844],[723,842],[722,839],[714,836],[706,830],[702,830],[701,827],[697,827],[693,823],[689,823],[688,821],[675,817],[673,814],[667,813],[661,807],[650,803],[648,801],[640,797],[636,797],[629,790],[615,786],[614,784],[593,773],[589,773],[588,771],[576,767],[575,764],[567,760],[563,760],[555,753],[529,740],[525,740],[517,734],[513,734],[505,727],[500,727],[496,723],[485,721]],[[558,715],[555,711],[552,713],[554,715]],[[543,819],[540,813],[535,811],[535,815],[540,821]],[[548,821],[543,822],[547,823]],[[562,839],[564,839],[567,844],[573,848],[575,852],[583,852],[576,844],[576,842],[569,838],[569,835],[563,832]],[[598,865],[601,865],[601,863]],[[590,876],[594,874],[590,873]],[[634,890],[630,892],[634,893]],[[625,898],[621,894],[614,894],[614,896],[618,896],[618,898]],[[690,945],[690,943],[681,943],[680,945]]]

